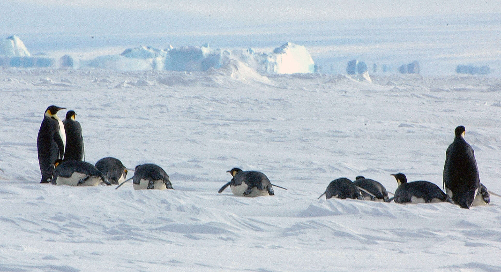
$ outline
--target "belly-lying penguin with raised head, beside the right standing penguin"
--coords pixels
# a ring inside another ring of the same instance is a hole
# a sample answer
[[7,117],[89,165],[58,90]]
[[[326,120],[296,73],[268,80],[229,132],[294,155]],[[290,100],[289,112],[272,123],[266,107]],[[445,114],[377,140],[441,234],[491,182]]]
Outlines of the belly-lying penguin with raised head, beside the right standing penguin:
[[436,203],[445,201],[454,204],[454,201],[435,183],[424,180],[407,183],[407,177],[404,174],[391,175],[397,180],[398,188],[395,190],[395,195],[386,202],[391,202],[391,200],[397,203]]

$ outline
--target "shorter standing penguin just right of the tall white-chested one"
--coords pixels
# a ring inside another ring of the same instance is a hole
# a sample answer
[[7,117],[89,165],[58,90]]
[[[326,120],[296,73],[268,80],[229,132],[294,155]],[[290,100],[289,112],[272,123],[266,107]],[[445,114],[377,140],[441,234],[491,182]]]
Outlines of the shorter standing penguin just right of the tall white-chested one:
[[63,120],[64,130],[66,132],[65,160],[85,160],[82,126],[80,126],[78,121],[75,121],[76,115],[74,111],[68,111],[66,113],[66,118]]

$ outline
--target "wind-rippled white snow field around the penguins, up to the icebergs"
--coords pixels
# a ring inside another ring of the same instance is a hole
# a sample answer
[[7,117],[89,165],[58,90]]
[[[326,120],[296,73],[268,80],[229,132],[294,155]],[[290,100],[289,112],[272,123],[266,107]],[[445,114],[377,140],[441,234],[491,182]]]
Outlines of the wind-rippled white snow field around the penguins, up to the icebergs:
[[[193,73],[0,70],[0,270],[501,270],[496,196],[470,210],[317,200],[357,175],[390,192],[396,172],[441,187],[457,125],[481,182],[501,192],[501,79],[372,79],[262,77],[237,61]],[[89,162],[155,163],[175,190],[40,184],[36,137],[52,104],[77,112]],[[233,167],[288,190],[218,194]]]

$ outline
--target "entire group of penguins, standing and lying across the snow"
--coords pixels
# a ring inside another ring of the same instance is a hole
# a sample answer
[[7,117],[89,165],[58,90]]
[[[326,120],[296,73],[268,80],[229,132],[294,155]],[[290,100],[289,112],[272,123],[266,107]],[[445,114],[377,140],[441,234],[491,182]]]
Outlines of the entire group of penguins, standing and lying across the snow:
[[[132,180],[136,190],[141,189],[174,189],[169,175],[160,166],[152,163],[137,165],[134,176],[126,179],[128,170],[122,162],[113,157],[102,158],[92,165],[85,162],[82,127],[75,120],[75,111],[66,113],[61,120],[57,113],[66,108],[50,106],[44,113],[37,138],[37,150],[42,174],[41,183],[66,184],[72,186],[96,186],[98,184],[119,184]],[[458,126],[454,130],[454,140],[445,152],[443,168],[443,187],[418,180],[407,182],[403,173],[391,174],[397,181],[397,189],[393,197],[389,197],[386,188],[378,181],[357,176],[354,181],[346,177],[337,178],[329,183],[326,190],[318,198],[325,195],[329,198],[352,198],[361,200],[384,201],[396,203],[434,203],[449,202],[461,208],[486,205],[489,203],[489,191],[480,183],[478,167],[473,149],[464,140],[465,128]],[[218,193],[228,186],[238,196],[275,195],[272,184],[262,172],[243,171],[232,168],[226,171],[231,180],[225,183]]]

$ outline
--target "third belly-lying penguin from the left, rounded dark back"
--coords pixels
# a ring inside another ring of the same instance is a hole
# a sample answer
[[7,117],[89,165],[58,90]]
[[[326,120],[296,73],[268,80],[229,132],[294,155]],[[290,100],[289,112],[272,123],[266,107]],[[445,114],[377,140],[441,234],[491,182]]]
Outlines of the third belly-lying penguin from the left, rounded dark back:
[[160,166],[152,163],[136,166],[132,177],[132,186],[134,190],[174,189],[170,183],[169,175]]

